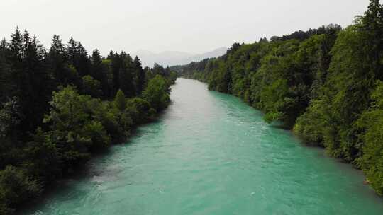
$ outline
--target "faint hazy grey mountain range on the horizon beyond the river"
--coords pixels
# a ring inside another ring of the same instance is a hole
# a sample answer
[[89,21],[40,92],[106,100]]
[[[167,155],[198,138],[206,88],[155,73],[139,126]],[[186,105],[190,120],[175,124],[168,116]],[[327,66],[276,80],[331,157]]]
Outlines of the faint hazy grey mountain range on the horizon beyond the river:
[[226,50],[226,47],[221,47],[203,54],[191,54],[187,52],[175,51],[154,53],[147,50],[140,50],[134,55],[140,57],[143,66],[153,66],[155,63],[161,64],[162,66],[174,66],[189,64],[190,62],[200,61],[205,58],[218,57],[225,54]]

